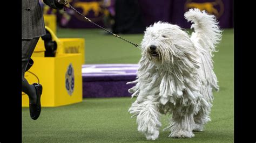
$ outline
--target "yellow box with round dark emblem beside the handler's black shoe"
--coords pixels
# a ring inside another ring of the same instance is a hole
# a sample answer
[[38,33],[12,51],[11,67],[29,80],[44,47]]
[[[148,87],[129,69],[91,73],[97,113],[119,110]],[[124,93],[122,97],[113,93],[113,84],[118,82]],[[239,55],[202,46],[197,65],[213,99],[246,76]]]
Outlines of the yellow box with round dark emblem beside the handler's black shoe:
[[[55,107],[82,102],[81,54],[62,54],[56,57],[33,57],[34,65],[25,73],[29,83],[43,85],[41,104]],[[22,106],[29,106],[23,93]]]

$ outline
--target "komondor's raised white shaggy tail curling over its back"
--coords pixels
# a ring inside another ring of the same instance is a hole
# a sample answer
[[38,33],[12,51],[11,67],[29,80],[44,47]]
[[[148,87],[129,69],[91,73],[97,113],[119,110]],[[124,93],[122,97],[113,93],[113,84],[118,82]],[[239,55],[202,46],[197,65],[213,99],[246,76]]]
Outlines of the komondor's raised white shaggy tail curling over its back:
[[199,38],[204,42],[204,48],[212,52],[217,52],[215,47],[221,40],[221,33],[217,19],[214,15],[208,15],[206,11],[199,9],[190,9],[185,13],[185,18],[188,22],[192,22],[191,28],[194,28],[195,33],[192,33],[191,38]]

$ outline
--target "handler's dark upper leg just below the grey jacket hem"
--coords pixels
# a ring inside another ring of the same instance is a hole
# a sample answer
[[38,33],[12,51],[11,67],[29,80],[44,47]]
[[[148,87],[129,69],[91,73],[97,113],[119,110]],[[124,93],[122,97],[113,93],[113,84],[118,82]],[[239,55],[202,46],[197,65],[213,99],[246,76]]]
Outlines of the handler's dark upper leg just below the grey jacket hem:
[[22,39],[22,81],[24,81],[24,74],[28,66],[29,59],[36,47],[39,37],[33,39]]

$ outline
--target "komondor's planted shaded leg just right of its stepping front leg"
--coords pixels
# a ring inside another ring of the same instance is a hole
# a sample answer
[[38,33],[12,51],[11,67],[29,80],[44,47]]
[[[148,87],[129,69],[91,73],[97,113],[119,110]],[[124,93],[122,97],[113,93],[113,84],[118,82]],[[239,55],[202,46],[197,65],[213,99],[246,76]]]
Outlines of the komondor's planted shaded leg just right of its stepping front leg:
[[192,138],[193,125],[194,125],[194,107],[193,106],[183,106],[176,105],[173,109],[172,119],[170,120],[169,127],[164,130],[170,130],[171,138]]

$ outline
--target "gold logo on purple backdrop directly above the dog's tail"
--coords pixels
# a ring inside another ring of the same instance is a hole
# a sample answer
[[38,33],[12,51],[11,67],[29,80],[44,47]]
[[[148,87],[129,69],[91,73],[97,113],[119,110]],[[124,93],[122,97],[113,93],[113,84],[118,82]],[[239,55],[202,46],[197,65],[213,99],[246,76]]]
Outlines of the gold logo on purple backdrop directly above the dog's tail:
[[224,12],[224,4],[221,0],[215,0],[210,2],[193,2],[193,0],[188,0],[185,3],[185,11],[191,8],[197,8],[199,10],[206,10],[208,13],[215,15],[217,18],[220,18]]

